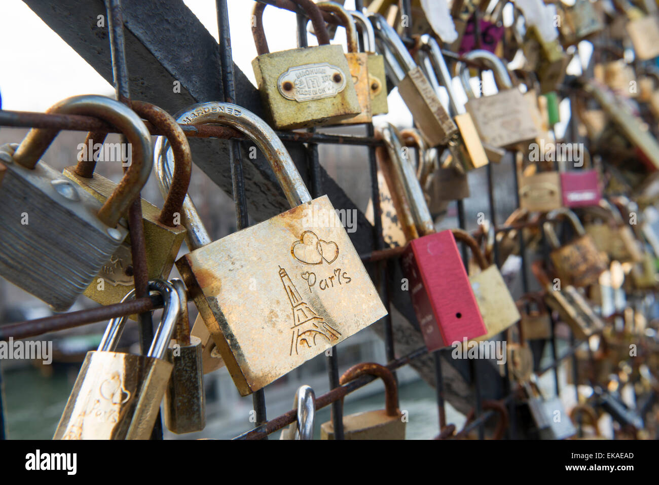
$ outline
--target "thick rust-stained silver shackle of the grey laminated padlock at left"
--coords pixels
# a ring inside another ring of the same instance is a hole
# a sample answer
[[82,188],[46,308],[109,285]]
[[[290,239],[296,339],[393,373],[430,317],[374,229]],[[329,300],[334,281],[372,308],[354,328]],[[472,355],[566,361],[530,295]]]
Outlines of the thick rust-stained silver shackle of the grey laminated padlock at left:
[[[105,225],[116,227],[151,175],[153,154],[149,130],[125,104],[96,94],[72,96],[52,105],[46,113],[94,116],[125,134],[130,143],[130,167],[97,214]],[[34,169],[57,134],[59,130],[53,128],[32,128],[16,148],[13,161],[26,169]]]

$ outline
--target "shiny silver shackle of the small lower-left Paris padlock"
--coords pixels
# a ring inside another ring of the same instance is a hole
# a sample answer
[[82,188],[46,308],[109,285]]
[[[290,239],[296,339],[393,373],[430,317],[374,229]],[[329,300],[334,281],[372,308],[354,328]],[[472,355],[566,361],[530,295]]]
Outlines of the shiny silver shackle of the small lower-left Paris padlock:
[[[146,353],[146,357],[159,359],[165,357],[167,346],[169,345],[171,336],[174,333],[174,328],[179,320],[181,314],[181,300],[179,299],[179,293],[177,292],[177,289],[175,289],[173,281],[175,280],[165,281],[164,279],[152,279],[149,281],[149,289],[162,295],[165,302],[165,308],[163,309],[163,318],[156,330],[151,346]],[[123,297],[121,302],[134,299],[135,289],[132,289],[128,295]],[[105,333],[103,333],[103,337],[101,337],[101,343],[98,345],[98,352],[114,352],[115,349],[117,349],[127,319],[128,316],[121,316],[109,321],[107,328],[105,328]]]

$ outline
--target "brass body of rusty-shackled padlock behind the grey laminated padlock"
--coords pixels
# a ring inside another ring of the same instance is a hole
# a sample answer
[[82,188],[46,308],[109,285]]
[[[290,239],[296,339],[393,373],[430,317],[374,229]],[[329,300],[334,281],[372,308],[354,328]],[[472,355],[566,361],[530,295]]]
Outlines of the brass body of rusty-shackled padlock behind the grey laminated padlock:
[[[113,181],[94,173],[91,179],[80,177],[75,173],[75,167],[64,169],[63,175],[81,188],[92,194],[96,200],[105,202],[117,188]],[[146,241],[146,267],[149,279],[167,279],[179,254],[181,244],[185,239],[186,230],[182,225],[167,227],[159,223],[160,210],[142,199],[142,227]],[[98,279],[103,279],[99,285]],[[130,250],[130,234],[117,248],[98,273],[98,277],[84,291],[84,295],[95,302],[108,305],[118,303],[134,288],[132,273],[132,254]],[[131,315],[136,320],[135,315]]]

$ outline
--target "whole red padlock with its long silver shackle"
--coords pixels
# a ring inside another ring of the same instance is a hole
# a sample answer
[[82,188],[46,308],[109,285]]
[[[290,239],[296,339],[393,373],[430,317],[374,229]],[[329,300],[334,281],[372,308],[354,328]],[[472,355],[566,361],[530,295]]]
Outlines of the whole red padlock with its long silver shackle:
[[412,165],[403,159],[396,128],[382,130],[387,146],[386,163],[403,182],[416,229],[422,237],[407,244],[401,262],[409,279],[409,291],[421,333],[429,351],[435,351],[485,335],[467,271],[451,231],[435,232],[423,191]]

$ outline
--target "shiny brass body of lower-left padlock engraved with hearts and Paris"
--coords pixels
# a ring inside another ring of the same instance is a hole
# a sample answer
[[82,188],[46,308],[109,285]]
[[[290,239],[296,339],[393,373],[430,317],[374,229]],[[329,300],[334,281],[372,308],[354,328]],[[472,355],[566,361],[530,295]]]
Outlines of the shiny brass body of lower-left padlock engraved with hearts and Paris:
[[119,352],[88,352],[53,440],[148,440],[172,364]]

